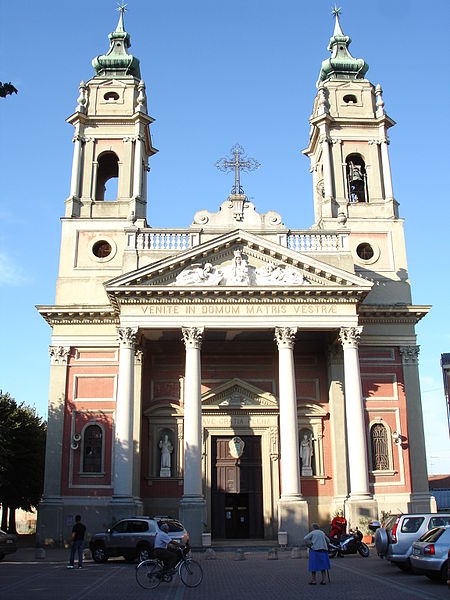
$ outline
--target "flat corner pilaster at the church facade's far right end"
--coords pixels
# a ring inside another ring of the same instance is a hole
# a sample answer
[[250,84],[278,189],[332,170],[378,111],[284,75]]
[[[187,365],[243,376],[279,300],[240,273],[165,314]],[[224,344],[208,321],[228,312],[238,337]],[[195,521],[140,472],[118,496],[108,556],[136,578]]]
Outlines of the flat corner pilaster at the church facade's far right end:
[[400,346],[408,420],[408,449],[411,473],[411,512],[430,512],[425,435],[419,381],[419,346]]

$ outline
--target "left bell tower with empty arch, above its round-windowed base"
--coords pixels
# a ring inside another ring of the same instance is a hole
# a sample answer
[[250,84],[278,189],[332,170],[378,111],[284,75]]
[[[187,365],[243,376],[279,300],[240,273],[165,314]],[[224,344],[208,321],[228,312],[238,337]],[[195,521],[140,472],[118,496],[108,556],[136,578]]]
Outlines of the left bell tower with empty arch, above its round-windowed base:
[[73,115],[74,155],[68,218],[146,218],[146,171],[152,146],[145,83],[139,59],[128,53],[123,13],[109,34],[110,48],[92,61],[95,76],[82,81]]

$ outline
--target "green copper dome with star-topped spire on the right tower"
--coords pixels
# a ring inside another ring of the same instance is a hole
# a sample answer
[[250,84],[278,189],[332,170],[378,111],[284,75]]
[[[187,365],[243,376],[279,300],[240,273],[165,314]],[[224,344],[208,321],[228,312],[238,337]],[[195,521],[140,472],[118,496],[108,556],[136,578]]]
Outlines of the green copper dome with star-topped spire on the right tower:
[[339,9],[333,10],[336,17],[333,37],[330,39],[328,50],[331,58],[322,62],[317,87],[328,79],[364,79],[369,65],[362,58],[353,58],[348,49],[351,39],[344,35],[339,23]]

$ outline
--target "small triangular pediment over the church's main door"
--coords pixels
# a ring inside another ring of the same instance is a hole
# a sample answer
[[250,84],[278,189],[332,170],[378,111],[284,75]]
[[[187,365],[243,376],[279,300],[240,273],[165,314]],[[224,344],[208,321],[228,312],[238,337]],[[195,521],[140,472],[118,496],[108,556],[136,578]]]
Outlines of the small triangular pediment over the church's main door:
[[230,379],[202,394],[202,409],[239,408],[277,409],[278,402],[273,394],[238,378]]

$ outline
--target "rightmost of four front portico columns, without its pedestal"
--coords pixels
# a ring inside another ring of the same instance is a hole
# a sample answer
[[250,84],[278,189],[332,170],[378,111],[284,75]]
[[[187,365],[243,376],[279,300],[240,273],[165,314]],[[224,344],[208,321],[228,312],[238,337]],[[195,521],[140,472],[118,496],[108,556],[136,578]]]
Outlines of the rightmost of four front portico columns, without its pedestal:
[[366,422],[359,372],[358,343],[362,327],[342,327],[339,331],[344,348],[345,415],[347,419],[350,498],[368,498]]

